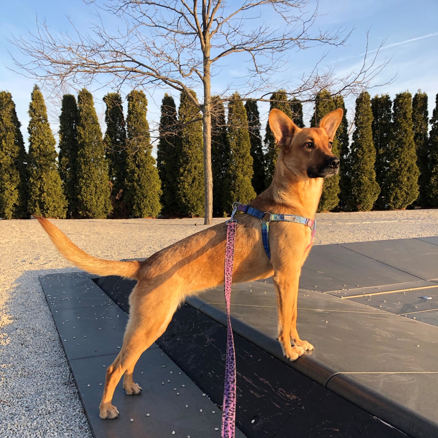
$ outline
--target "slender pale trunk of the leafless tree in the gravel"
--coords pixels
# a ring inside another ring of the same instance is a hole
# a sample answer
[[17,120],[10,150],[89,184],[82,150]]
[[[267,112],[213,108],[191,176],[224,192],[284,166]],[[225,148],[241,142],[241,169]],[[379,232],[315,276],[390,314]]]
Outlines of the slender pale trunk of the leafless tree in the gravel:
[[213,223],[213,174],[212,174],[212,101],[210,82],[210,60],[204,59],[204,105],[202,108],[202,139],[204,144],[204,224]]

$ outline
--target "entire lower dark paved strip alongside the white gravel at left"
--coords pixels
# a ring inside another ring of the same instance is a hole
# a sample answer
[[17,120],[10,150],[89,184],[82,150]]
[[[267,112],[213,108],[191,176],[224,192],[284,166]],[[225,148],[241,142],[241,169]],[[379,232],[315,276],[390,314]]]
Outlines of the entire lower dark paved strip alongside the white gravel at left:
[[[123,342],[127,314],[86,273],[40,277],[95,438],[220,437],[222,412],[153,344],[138,361],[134,380],[143,392],[127,396],[122,382],[113,404],[120,417],[99,418],[110,365]],[[237,430],[237,437],[244,434]]]

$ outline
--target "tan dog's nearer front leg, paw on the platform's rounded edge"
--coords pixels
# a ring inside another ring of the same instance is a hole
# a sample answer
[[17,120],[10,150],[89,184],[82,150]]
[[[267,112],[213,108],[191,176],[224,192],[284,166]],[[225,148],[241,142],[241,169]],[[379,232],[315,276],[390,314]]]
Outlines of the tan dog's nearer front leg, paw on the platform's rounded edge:
[[[297,318],[297,295],[300,270],[277,269],[272,276],[277,294],[278,340],[283,354],[290,360],[296,360],[304,353],[304,348],[291,344],[292,322]],[[295,329],[296,331],[296,329]]]

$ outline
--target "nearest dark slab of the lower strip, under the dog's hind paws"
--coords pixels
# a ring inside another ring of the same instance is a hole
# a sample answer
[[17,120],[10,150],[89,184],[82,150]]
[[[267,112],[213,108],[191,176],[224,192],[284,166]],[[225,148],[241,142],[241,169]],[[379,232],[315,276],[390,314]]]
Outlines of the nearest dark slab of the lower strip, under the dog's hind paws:
[[[135,367],[134,381],[143,392],[138,396],[127,396],[121,380],[113,398],[120,417],[100,419],[99,403],[105,370],[115,357],[88,357],[70,362],[96,438],[220,437],[220,409],[208,397],[202,396],[202,391],[160,349],[143,353]],[[244,438],[244,434],[237,430],[236,437]]]

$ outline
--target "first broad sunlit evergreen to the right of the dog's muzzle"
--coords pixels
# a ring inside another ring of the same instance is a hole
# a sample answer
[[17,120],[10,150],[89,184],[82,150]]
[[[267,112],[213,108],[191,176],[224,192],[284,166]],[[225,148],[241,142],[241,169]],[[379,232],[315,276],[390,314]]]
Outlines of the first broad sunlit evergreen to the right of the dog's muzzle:
[[370,95],[368,92],[362,92],[356,99],[355,130],[349,156],[350,196],[348,204],[349,208],[363,212],[373,208],[380,193],[374,170],[376,150],[373,145],[372,121]]

